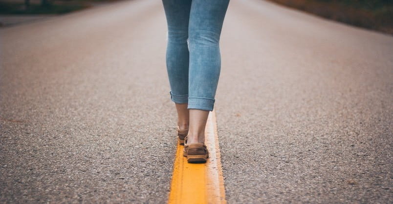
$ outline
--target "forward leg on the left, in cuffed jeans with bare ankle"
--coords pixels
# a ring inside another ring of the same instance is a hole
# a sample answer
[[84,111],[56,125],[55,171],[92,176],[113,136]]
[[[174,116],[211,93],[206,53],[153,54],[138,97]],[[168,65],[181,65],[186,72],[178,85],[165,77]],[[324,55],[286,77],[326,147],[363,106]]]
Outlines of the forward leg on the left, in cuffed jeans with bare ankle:
[[180,132],[189,127],[187,45],[191,0],[162,0],[168,24],[166,65],[171,86],[171,100],[177,110]]

